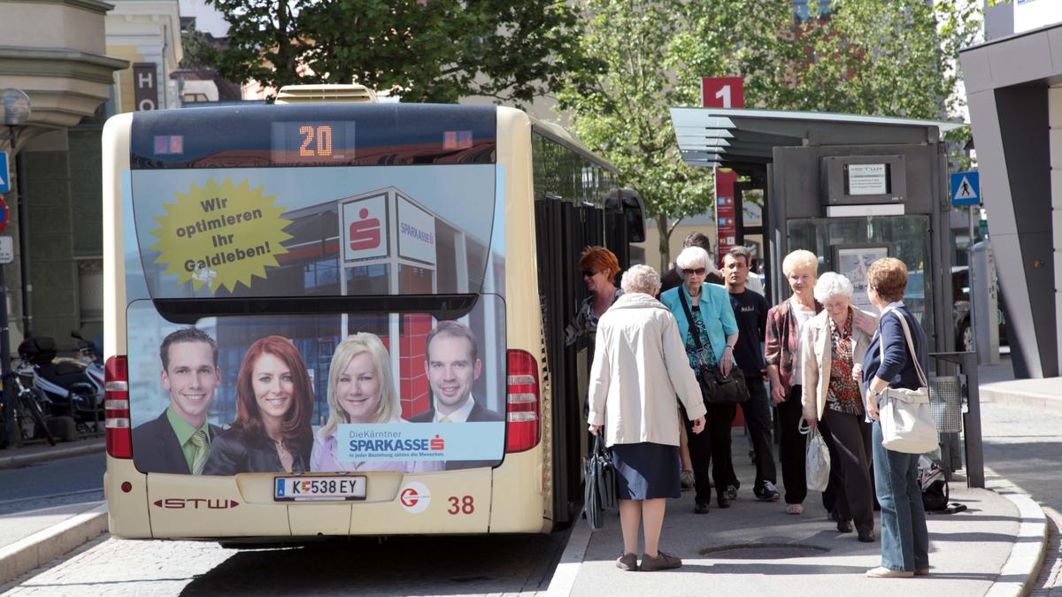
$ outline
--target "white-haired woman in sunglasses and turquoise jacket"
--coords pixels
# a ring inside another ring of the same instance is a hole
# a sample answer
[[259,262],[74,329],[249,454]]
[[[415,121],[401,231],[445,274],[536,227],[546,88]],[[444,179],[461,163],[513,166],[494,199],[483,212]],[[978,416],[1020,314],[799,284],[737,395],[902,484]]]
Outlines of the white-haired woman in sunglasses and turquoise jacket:
[[[679,324],[679,335],[686,346],[689,368],[697,375],[700,375],[701,365],[718,368],[723,375],[730,375],[734,368],[734,345],[737,344],[738,334],[730,293],[717,284],[705,284],[704,278],[712,268],[712,261],[707,251],[700,246],[683,249],[675,265],[683,283],[661,294],[661,303],[671,309],[671,314]],[[687,312],[690,317],[686,315]],[[697,494],[693,512],[697,514],[706,514],[712,501],[709,466],[716,484],[716,502],[720,508],[729,508],[733,499],[727,485],[732,485],[734,481],[731,466],[731,421],[734,420],[735,406],[706,406],[707,437],[689,437],[689,458],[693,465],[693,488]]]

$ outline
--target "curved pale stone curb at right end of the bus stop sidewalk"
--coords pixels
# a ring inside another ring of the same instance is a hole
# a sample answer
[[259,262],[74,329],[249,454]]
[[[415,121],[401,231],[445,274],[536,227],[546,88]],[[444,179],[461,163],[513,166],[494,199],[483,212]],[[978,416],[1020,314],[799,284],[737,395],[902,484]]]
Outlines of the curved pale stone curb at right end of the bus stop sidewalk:
[[1016,508],[1020,517],[1017,538],[1010,549],[999,576],[986,597],[1024,597],[1033,589],[1040,576],[1047,550],[1047,515],[1031,497],[1016,493],[999,493]]

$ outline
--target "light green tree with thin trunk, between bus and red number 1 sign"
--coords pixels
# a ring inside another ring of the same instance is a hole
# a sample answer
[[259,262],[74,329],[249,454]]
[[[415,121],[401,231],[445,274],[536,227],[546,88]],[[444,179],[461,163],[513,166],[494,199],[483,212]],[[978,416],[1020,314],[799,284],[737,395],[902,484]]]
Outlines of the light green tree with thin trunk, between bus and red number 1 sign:
[[[712,171],[682,161],[668,106],[698,105],[700,78],[746,74],[746,95],[773,101],[791,36],[786,0],[589,0],[583,52],[601,66],[558,95],[579,136],[619,169],[660,231],[661,268],[679,222],[712,205]],[[669,222],[670,220],[670,222]]]

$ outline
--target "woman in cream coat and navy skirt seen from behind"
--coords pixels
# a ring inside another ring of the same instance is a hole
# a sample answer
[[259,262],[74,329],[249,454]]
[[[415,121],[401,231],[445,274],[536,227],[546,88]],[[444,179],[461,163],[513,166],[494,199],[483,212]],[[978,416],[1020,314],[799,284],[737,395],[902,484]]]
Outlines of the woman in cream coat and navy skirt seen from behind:
[[667,498],[682,492],[674,396],[685,405],[693,433],[704,429],[704,402],[674,318],[653,298],[660,274],[649,266],[634,266],[621,286],[623,295],[598,321],[587,417],[590,433],[604,432],[619,473],[623,555],[616,567],[638,569],[641,523],[640,568],[678,568],[682,560],[658,549]]

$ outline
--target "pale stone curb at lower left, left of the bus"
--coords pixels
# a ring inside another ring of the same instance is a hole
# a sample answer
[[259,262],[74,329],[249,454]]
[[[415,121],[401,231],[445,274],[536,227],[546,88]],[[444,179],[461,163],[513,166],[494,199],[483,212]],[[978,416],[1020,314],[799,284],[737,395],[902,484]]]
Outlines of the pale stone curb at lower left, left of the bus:
[[0,548],[0,584],[81,547],[106,530],[107,505],[104,502]]

